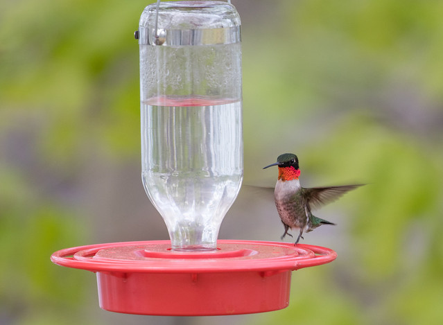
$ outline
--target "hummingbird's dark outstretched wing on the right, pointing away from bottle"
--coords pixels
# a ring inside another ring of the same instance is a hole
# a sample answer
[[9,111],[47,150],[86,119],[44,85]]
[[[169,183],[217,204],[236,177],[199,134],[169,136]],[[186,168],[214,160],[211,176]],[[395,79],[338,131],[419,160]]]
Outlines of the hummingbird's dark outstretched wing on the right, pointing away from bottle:
[[337,200],[338,197],[343,194],[363,185],[364,184],[302,188],[302,191],[309,207],[316,209]]

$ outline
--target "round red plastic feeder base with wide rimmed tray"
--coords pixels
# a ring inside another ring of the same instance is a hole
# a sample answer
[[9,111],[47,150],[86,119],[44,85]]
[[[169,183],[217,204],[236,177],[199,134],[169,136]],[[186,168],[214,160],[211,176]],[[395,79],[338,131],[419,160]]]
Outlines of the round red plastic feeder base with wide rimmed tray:
[[333,261],[331,249],[218,240],[216,251],[177,252],[169,240],[62,249],[53,263],[96,272],[101,308],[207,316],[261,313],[289,303],[291,271]]

